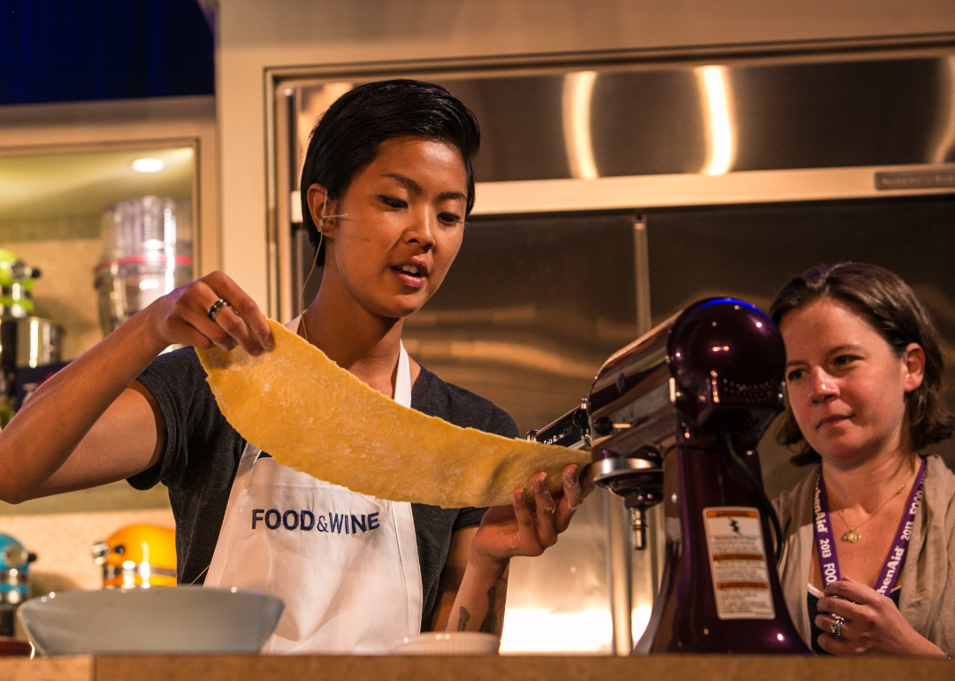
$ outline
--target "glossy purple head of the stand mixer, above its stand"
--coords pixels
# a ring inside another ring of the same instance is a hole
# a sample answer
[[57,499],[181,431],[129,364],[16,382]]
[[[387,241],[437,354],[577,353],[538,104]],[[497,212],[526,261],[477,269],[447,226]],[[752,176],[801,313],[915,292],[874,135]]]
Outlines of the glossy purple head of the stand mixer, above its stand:
[[679,445],[732,436],[754,446],[783,409],[785,352],[773,321],[733,298],[699,301],[621,351],[597,373],[586,415],[597,484],[624,498],[633,545],[663,497],[663,459]]

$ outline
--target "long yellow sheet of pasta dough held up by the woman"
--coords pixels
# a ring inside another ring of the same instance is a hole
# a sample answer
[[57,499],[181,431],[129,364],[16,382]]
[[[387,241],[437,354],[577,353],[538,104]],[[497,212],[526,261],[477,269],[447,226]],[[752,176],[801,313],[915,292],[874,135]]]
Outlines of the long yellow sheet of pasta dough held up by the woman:
[[278,463],[379,499],[445,508],[509,504],[547,472],[562,489],[579,450],[459,428],[403,407],[278,322],[275,348],[198,351],[223,415]]

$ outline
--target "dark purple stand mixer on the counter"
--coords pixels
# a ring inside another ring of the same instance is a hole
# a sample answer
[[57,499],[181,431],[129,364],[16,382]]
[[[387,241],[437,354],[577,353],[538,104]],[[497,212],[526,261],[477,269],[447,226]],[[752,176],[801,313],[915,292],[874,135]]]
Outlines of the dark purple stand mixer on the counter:
[[589,447],[595,482],[630,511],[634,549],[647,546],[647,509],[664,504],[663,576],[634,654],[810,654],[779,587],[781,533],[755,450],[784,408],[784,364],[763,312],[702,300],[613,354],[581,407],[528,434]]

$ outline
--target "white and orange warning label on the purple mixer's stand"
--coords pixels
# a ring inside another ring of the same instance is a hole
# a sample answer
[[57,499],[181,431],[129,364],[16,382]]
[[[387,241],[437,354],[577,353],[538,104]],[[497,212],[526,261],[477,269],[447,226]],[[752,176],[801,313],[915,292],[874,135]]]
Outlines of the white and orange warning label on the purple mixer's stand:
[[736,506],[704,508],[703,524],[717,616],[721,620],[774,619],[759,511]]

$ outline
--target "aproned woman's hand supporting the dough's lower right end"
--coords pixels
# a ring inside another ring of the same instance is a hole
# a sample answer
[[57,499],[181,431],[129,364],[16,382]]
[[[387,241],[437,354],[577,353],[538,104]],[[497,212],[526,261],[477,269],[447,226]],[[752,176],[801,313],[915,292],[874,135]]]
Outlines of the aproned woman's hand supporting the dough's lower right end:
[[492,506],[484,514],[471,544],[472,560],[504,564],[514,556],[540,556],[567,529],[574,511],[594,488],[589,472],[579,475],[570,464],[563,469],[563,494],[555,500],[543,473],[534,477],[534,499],[515,490],[513,504]]

